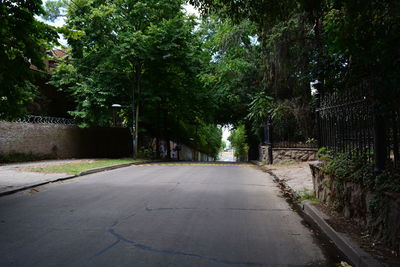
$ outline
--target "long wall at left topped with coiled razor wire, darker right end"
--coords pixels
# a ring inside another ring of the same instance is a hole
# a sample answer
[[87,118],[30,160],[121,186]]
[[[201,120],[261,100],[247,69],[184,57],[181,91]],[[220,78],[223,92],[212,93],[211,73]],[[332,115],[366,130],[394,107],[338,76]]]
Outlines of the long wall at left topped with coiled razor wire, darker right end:
[[131,154],[125,128],[81,129],[73,125],[0,122],[0,154],[44,158],[125,157]]

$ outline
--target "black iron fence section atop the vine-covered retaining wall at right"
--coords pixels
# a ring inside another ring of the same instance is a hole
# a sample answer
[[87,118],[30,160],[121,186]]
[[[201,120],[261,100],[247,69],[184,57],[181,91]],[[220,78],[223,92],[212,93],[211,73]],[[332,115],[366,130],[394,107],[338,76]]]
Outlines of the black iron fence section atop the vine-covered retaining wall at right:
[[318,96],[318,146],[362,155],[382,170],[399,166],[399,107],[395,99],[373,97],[370,90]]

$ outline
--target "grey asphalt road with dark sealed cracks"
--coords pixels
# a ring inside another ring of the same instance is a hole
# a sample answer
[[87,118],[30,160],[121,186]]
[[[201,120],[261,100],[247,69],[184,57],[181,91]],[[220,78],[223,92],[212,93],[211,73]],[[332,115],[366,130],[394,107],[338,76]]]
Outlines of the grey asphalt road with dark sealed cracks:
[[0,198],[0,266],[327,266],[268,174],[132,166]]

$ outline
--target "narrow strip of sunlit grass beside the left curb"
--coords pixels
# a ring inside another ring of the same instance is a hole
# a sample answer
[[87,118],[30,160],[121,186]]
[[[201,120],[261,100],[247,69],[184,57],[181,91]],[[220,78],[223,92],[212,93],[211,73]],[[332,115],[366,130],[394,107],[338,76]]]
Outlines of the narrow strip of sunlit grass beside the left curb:
[[124,163],[132,163],[135,161],[142,160],[133,160],[133,159],[108,159],[108,160],[96,160],[91,162],[80,162],[80,163],[65,163],[58,165],[50,165],[50,166],[41,166],[29,168],[29,171],[33,172],[43,172],[43,173],[68,173],[73,175],[78,175],[81,172],[108,167],[112,165],[124,164]]

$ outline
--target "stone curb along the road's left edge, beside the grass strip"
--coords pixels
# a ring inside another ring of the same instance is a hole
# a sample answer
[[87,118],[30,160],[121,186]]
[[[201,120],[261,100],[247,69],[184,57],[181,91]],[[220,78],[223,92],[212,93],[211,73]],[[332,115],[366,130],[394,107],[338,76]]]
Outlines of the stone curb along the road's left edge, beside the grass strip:
[[119,169],[119,168],[124,168],[124,167],[129,167],[132,165],[140,165],[140,164],[151,164],[151,163],[159,163],[160,161],[138,161],[138,162],[132,162],[132,163],[124,163],[124,164],[118,164],[118,165],[112,165],[112,166],[107,166],[107,167],[101,167],[101,168],[97,168],[97,169],[91,169],[91,170],[87,170],[87,171],[83,171],[77,175],[69,175],[69,176],[64,176],[64,177],[60,177],[60,178],[56,178],[54,180],[47,180],[44,182],[40,182],[40,183],[35,183],[35,184],[30,184],[30,185],[26,185],[26,186],[21,186],[19,188],[15,188],[15,189],[11,189],[8,191],[4,191],[4,192],[0,192],[0,197],[2,196],[6,196],[6,195],[11,195],[20,191],[25,191],[27,189],[31,189],[37,186],[41,186],[41,185],[46,185],[46,184],[50,184],[50,183],[56,183],[56,182],[60,182],[60,181],[65,181],[65,180],[69,180],[69,179],[73,179],[73,178],[78,178],[80,176],[85,176],[85,175],[89,175],[92,173],[98,173],[98,172],[104,172],[104,171],[110,171],[110,170],[114,170],[114,169]]

